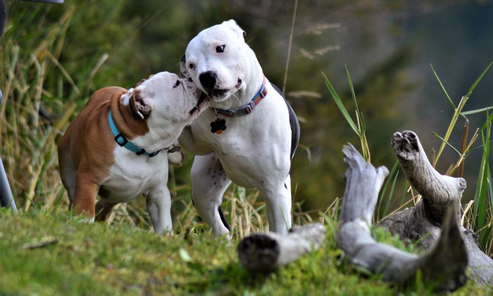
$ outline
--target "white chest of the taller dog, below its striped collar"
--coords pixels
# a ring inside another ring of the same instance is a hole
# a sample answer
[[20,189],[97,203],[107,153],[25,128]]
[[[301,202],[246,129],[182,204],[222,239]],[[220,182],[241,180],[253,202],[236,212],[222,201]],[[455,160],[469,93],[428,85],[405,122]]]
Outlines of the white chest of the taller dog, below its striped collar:
[[[212,112],[203,112],[192,123],[195,140],[210,146],[231,181],[246,188],[262,186],[265,180],[259,176],[277,178],[279,174],[285,177],[289,171],[289,126],[280,128],[282,118],[263,116],[260,110],[257,111],[248,117],[227,120],[226,130],[219,135],[206,128],[214,118]],[[268,174],[260,173],[266,167],[274,170]]]

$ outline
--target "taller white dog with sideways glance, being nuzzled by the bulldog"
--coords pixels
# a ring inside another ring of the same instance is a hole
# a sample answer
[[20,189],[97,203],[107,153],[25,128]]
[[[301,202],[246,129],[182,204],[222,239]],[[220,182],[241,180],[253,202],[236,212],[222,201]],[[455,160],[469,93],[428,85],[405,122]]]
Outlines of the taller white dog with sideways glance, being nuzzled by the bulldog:
[[[182,76],[211,99],[210,106],[244,106],[259,91],[263,72],[234,20],[194,37],[181,61]],[[266,201],[270,230],[291,228],[289,169],[298,144],[299,124],[279,89],[266,79],[267,96],[248,115],[234,118],[205,110],[187,126],[179,143],[196,154],[191,170],[192,200],[216,236],[229,233],[219,208],[228,185],[258,188]],[[215,118],[226,120],[222,134],[211,133]],[[229,234],[228,234],[229,237]]]

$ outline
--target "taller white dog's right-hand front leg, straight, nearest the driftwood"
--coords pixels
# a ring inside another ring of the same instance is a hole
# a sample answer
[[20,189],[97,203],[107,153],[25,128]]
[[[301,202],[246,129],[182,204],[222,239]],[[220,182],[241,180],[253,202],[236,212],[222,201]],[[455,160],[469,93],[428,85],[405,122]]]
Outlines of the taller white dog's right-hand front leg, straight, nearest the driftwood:
[[269,190],[260,188],[265,198],[269,230],[285,234],[291,229],[291,178]]

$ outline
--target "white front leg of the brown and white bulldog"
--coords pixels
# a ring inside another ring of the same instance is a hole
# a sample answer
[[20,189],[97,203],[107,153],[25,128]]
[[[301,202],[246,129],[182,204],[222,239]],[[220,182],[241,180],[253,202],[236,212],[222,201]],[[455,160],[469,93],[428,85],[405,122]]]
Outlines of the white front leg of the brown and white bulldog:
[[168,187],[164,186],[147,194],[147,211],[154,226],[154,232],[161,234],[164,231],[173,233],[171,221],[171,196]]

